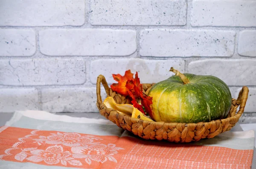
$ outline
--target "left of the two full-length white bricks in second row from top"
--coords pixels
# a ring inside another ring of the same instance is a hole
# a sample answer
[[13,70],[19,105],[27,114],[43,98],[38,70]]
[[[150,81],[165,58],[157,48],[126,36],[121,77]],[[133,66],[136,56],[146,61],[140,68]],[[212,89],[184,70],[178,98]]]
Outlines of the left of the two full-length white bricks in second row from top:
[[49,29],[39,32],[40,50],[51,56],[126,56],[136,51],[136,31]]

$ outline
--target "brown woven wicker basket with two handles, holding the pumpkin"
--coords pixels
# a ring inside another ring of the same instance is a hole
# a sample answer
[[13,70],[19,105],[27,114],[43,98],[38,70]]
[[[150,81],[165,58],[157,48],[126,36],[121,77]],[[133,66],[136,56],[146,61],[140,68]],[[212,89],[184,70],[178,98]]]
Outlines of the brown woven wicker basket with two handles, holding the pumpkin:
[[[106,105],[102,103],[102,97],[100,95],[101,83],[105,88],[107,96],[113,97],[117,104],[129,103],[129,100],[125,96],[113,92],[111,88],[108,87],[105,77],[99,75],[97,78],[96,93],[97,107],[101,115],[104,115],[105,118],[115,123],[118,127],[128,130],[134,133],[134,135],[138,135],[146,140],[167,140],[181,143],[199,141],[201,138],[213,138],[222,132],[230,130],[235,126],[244,112],[249,92],[248,87],[242,87],[238,98],[232,99],[227,118],[199,123],[166,123],[163,121],[155,122],[131,118],[128,115],[107,108]],[[147,94],[152,85],[153,84],[143,84],[143,92]],[[239,111],[236,113],[238,107]]]

